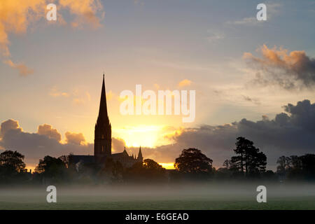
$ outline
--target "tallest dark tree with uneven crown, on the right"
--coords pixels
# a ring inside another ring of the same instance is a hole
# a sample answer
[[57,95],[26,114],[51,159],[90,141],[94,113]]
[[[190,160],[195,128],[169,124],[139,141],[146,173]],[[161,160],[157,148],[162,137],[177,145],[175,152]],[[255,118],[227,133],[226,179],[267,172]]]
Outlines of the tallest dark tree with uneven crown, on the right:
[[241,174],[245,173],[247,176],[249,173],[265,172],[267,157],[259,151],[259,148],[253,146],[253,141],[238,137],[235,145],[237,147],[234,151],[237,156],[233,156],[231,162]]

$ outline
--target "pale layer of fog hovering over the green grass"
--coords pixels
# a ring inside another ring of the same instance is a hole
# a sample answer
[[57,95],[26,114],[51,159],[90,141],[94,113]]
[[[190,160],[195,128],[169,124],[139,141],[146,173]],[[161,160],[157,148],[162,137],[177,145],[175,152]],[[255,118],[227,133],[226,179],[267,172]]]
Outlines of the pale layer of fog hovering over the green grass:
[[[268,200],[314,197],[315,184],[182,183],[172,186],[56,186],[58,202],[256,201],[256,188],[267,188]],[[1,202],[46,202],[47,186],[0,188]]]

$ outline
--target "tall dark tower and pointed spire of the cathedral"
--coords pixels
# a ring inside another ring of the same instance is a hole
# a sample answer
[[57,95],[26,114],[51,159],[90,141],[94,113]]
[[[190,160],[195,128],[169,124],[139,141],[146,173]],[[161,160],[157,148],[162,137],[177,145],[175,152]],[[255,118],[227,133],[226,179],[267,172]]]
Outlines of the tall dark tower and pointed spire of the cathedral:
[[104,75],[99,116],[94,131],[94,156],[98,161],[111,156],[111,123],[109,122],[109,115],[107,113]]

